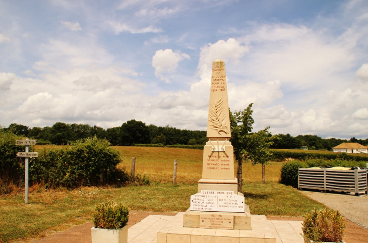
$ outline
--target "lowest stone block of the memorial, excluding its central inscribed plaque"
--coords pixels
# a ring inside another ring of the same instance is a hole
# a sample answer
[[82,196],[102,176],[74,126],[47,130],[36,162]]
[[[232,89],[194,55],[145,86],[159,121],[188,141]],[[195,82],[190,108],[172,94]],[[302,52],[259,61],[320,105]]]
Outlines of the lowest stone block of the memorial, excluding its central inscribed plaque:
[[[234,216],[234,229],[252,230],[251,212],[247,204],[244,211],[244,213],[221,212],[221,214]],[[182,225],[183,227],[199,228],[199,214],[211,215],[213,213],[218,212],[191,211],[188,209],[183,215]]]

